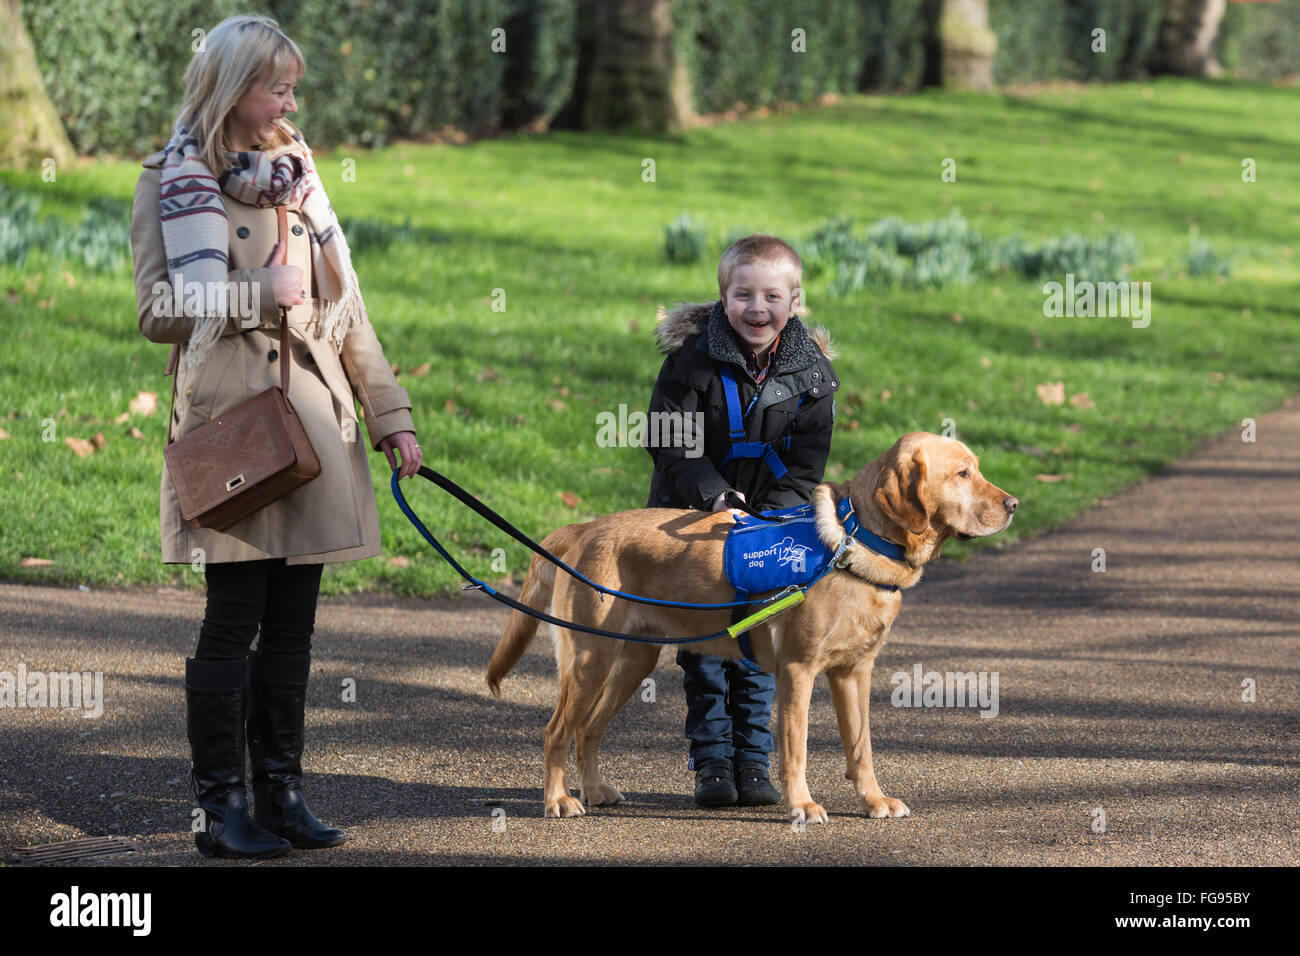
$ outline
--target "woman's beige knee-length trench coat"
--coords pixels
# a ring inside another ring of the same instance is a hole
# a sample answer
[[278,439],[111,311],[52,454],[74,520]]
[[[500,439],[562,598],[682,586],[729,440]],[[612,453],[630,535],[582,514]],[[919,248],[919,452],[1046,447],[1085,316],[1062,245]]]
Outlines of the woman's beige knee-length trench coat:
[[[131,207],[135,302],[140,333],[151,342],[179,343],[183,354],[194,320],[170,317],[172,310],[164,308],[164,304],[170,306],[172,293],[159,213],[161,161],[161,152],[144,160]],[[230,220],[230,280],[260,286],[261,323],[244,329],[238,316],[233,316],[203,364],[191,369],[183,362],[174,363],[173,438],[280,384],[280,307],[270,269],[264,268],[278,238],[276,209],[246,206],[231,196],[224,199]],[[315,298],[309,239],[296,204],[289,207],[287,239],[287,263],[303,271],[303,287]],[[164,295],[155,293],[159,282],[168,286]],[[160,298],[165,303],[156,303]],[[194,528],[181,518],[172,479],[162,466],[159,518],[164,564],[187,564],[198,558],[213,563],[285,558],[289,564],[318,564],[380,554],[374,484],[361,444],[354,392],[361,399],[365,431],[377,451],[387,436],[415,431],[411,399],[396,384],[369,323],[348,333],[339,355],[326,341],[316,338],[309,300],[294,306],[287,315],[294,363],[289,401],[320,458],[321,473],[218,532]]]

